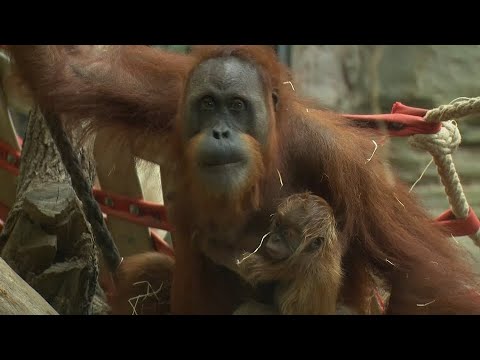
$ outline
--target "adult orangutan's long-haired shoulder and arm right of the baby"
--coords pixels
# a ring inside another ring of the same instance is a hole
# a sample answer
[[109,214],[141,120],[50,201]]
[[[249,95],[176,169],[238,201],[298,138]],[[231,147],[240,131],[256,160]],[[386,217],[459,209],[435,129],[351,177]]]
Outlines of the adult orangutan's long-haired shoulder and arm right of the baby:
[[[388,313],[480,313],[478,298],[468,288],[478,287],[468,255],[433,224],[405,185],[390,182],[380,158],[366,163],[369,132],[346,126],[334,114],[321,113],[321,118],[306,113],[299,102],[294,106],[298,115],[290,118],[295,123],[290,126],[296,131],[289,141],[299,152],[289,152],[299,154],[299,162],[310,160],[303,174],[316,180],[310,189],[325,195],[341,219],[343,236],[353,239],[347,262],[365,264],[391,286]],[[316,139],[309,155],[307,146],[298,145],[306,136]],[[360,302],[371,282],[361,273],[348,273],[357,288],[351,298]]]

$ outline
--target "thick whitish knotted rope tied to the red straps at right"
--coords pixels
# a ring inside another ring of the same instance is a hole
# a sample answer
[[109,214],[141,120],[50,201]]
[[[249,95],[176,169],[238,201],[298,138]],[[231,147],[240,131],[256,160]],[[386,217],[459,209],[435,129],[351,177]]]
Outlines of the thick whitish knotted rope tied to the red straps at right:
[[[468,216],[470,205],[467,202],[462,184],[458,178],[452,154],[462,141],[454,118],[480,113],[480,97],[459,98],[449,105],[432,109],[425,115],[427,122],[441,122],[442,128],[436,134],[413,135],[409,139],[412,147],[428,151],[437,165],[438,174],[445,187],[452,213],[458,219]],[[480,247],[480,230],[470,234],[470,238]]]

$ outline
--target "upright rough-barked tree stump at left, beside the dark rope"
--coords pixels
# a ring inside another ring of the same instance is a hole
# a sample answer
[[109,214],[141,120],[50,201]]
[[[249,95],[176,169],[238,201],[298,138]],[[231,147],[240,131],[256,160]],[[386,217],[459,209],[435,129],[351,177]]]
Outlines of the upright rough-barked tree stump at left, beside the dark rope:
[[[86,151],[79,149],[84,163],[90,159]],[[84,169],[93,182],[94,167],[85,164]],[[2,258],[58,313],[93,313],[93,297],[98,293],[97,249],[39,111],[32,113],[27,127],[16,199],[0,247],[2,243]]]

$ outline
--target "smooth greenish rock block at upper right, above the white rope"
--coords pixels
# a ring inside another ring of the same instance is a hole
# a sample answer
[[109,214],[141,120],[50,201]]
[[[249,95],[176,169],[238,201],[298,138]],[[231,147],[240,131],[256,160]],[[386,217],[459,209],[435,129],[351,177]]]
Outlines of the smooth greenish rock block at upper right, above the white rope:
[[478,45],[382,46],[378,80],[382,107],[394,101],[436,107],[480,94],[475,81],[480,63]]

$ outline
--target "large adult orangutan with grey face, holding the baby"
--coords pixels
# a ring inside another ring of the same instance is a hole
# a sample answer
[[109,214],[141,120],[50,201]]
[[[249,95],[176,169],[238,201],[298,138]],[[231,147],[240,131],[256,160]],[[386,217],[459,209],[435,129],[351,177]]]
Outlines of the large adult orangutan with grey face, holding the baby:
[[254,296],[235,259],[258,246],[281,198],[310,191],[349,241],[346,305],[362,312],[373,273],[391,288],[389,314],[480,314],[477,279],[455,242],[387,180],[378,156],[367,161],[370,130],[314,110],[270,48],[9,49],[43,111],[70,125],[93,118],[91,129],[109,126],[140,157],[172,167],[173,313],[231,314]]

